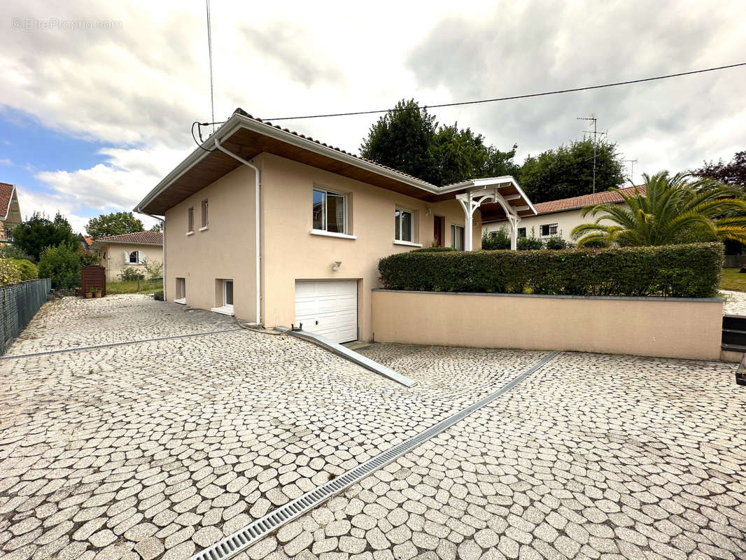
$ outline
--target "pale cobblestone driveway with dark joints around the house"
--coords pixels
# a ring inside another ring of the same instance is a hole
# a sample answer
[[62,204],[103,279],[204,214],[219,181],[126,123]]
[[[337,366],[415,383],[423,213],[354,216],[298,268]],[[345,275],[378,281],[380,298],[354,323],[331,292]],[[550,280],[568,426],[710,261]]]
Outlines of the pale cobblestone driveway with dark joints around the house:
[[[10,353],[233,326],[66,299]],[[0,361],[4,558],[187,558],[545,355],[362,352],[419,385],[247,331]],[[730,364],[565,353],[239,558],[743,558],[745,423]]]

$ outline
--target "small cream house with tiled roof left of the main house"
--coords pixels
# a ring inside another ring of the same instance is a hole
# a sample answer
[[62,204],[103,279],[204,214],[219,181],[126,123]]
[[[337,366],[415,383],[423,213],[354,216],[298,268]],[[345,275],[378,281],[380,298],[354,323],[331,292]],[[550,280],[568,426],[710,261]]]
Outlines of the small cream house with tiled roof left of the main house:
[[91,250],[101,256],[106,269],[106,281],[119,280],[119,274],[134,267],[145,275],[145,259],[163,262],[163,234],[160,231],[137,231],[110,235],[93,240]]

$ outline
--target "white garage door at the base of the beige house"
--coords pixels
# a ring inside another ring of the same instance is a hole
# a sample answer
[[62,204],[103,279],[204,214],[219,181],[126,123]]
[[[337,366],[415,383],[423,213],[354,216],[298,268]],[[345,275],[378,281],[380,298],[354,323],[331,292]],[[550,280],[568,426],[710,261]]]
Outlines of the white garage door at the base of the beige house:
[[357,340],[357,280],[295,282],[295,326],[334,342]]

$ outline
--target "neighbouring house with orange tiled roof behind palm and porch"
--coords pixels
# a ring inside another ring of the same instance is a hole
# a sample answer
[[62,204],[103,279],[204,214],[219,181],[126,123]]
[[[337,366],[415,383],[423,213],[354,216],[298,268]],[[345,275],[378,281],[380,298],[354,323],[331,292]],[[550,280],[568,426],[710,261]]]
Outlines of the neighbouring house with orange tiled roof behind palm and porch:
[[[645,194],[645,185],[639,187],[624,187],[619,189],[619,193],[611,190],[604,190],[601,193],[586,194],[583,196],[573,196],[570,199],[551,200],[549,202],[537,202],[536,216],[530,216],[521,220],[518,227],[518,237],[538,237],[539,239],[548,239],[549,237],[562,237],[565,241],[574,243],[572,239],[572,230],[580,224],[592,223],[601,216],[595,217],[586,214],[583,217],[582,211],[586,206],[601,204],[603,202],[612,202],[614,204],[624,204],[624,199],[620,193],[630,195],[637,189],[640,193]],[[483,231],[488,234],[494,234],[500,228],[507,228],[506,220],[482,220]]]

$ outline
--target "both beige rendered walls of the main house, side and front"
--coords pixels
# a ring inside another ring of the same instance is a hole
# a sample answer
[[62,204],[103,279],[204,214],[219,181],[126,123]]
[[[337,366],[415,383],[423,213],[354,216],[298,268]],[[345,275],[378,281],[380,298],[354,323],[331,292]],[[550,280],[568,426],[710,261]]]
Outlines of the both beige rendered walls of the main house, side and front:
[[[451,225],[464,225],[454,199],[428,203],[276,155],[254,158],[261,178],[262,322],[266,326],[295,323],[295,282],[354,279],[358,285],[358,329],[369,340],[371,290],[379,286],[377,262],[386,255],[415,249],[394,243],[395,208],[413,211],[414,242],[433,244],[433,220],[443,217],[443,244],[451,245]],[[355,239],[312,234],[313,189],[344,194],[347,233]],[[210,229],[186,235],[189,207],[198,229],[201,201],[209,200]],[[472,229],[474,248],[481,246],[477,211]],[[215,181],[166,212],[166,296],[174,300],[176,279],[186,280],[186,303],[210,309],[216,301],[216,280],[233,280],[236,317],[254,320],[254,173],[246,166]],[[336,272],[334,261],[342,264]]]

